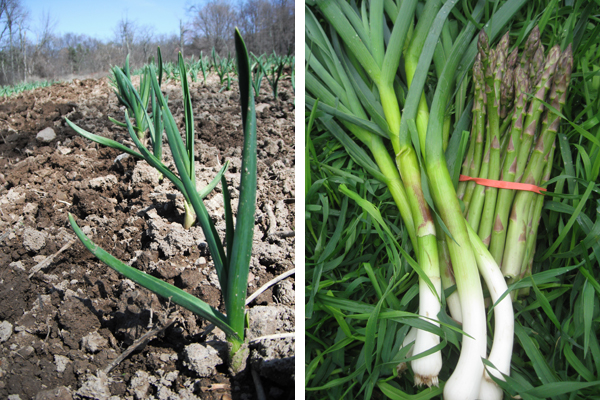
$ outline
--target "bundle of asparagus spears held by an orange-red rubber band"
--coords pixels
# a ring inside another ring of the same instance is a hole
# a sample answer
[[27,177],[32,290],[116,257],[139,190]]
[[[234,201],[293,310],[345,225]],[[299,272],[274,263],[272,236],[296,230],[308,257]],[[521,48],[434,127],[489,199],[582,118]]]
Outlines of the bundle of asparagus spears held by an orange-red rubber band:
[[[518,49],[508,54],[508,48],[508,33],[495,49],[485,32],[479,35],[471,140],[457,195],[510,283],[531,274],[543,205],[539,186],[550,179],[573,55],[571,45],[563,52],[556,45],[545,57],[537,27],[520,59]],[[529,186],[515,190],[511,182]]]

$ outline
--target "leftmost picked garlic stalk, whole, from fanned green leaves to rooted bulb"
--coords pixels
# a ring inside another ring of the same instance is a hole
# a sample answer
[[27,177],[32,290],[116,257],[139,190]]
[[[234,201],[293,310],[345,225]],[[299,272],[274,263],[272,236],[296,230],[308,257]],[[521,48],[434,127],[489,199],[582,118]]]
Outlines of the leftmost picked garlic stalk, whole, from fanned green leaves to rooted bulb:
[[[439,3],[439,0],[430,0],[427,4],[435,5],[436,3]],[[417,248],[415,249],[417,259],[420,267],[433,283],[436,291],[436,293],[431,293],[429,286],[420,279],[420,314],[427,317],[437,315],[439,302],[436,299],[439,298],[441,283],[437,243],[435,240],[435,226],[421,188],[421,170],[417,161],[417,154],[411,145],[410,136],[407,134],[400,135],[400,107],[393,86],[394,76],[400,62],[400,52],[410,26],[411,16],[416,7],[416,1],[407,0],[402,3],[399,10],[399,15],[402,18],[396,18],[385,55],[382,54],[383,47],[379,45],[380,41],[383,42],[383,37],[379,31],[384,18],[383,1],[379,0],[371,3],[370,26],[374,29],[371,32],[371,38],[372,41],[378,43],[376,45],[373,45],[373,42],[371,43],[371,57],[360,53],[363,51],[364,44],[357,42],[357,35],[351,34],[352,29],[349,21],[341,18],[339,14],[335,14],[332,2],[324,1],[319,3],[319,6],[323,14],[325,14],[326,18],[334,26],[340,38],[344,40],[347,47],[378,88],[381,105],[390,131],[392,147],[396,154],[396,164],[404,182],[414,221],[417,237]],[[376,13],[376,15],[373,13]],[[346,15],[348,16],[348,13]],[[432,16],[434,16],[433,13]],[[424,19],[421,19],[421,21],[426,22]],[[433,23],[433,18],[429,20],[429,23]],[[356,26],[357,24],[355,24]],[[381,69],[376,68],[378,65],[381,65]],[[426,126],[426,120],[423,120],[423,116],[424,114],[421,113],[417,120],[420,119],[421,123]],[[438,336],[421,331],[417,336],[414,352],[415,354],[420,354],[434,347],[437,343],[439,343]],[[441,354],[439,352],[416,359],[412,365],[415,371],[415,384],[426,384],[428,386],[438,384],[437,375],[441,369]]]

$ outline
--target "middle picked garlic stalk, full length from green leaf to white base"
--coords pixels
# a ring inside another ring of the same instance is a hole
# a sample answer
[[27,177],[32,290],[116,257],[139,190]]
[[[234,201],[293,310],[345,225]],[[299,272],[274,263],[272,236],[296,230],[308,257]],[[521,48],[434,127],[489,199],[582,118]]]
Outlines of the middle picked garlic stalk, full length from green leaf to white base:
[[[449,3],[448,1],[444,8]],[[474,33],[475,26],[469,23],[457,38],[442,76],[439,77],[431,104],[424,148],[431,195],[438,213],[452,235],[452,239],[447,240],[448,250],[453,261],[454,277],[462,308],[462,328],[468,335],[463,335],[458,364],[444,387],[446,400],[477,397],[480,382],[473,377],[483,375],[481,358],[485,357],[486,353],[485,308],[477,262],[452,178],[446,166],[441,137],[446,105],[451,95],[449,88],[452,86],[458,62]]]

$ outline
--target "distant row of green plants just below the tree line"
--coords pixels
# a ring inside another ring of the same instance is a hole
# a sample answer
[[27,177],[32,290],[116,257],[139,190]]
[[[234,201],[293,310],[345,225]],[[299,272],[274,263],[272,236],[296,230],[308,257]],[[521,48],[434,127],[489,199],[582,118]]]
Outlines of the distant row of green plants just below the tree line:
[[[292,82],[292,87],[295,90],[295,70],[294,70],[293,55],[281,56],[276,53],[262,54],[257,56],[251,54],[251,70],[252,70],[252,88],[254,95],[260,96],[260,87],[264,79],[267,80],[271,93],[275,100],[279,97],[279,81],[288,73],[288,77]],[[206,78],[210,73],[214,73],[219,77],[219,83],[222,86],[221,90],[231,90],[231,83],[237,76],[235,58],[228,54],[220,56],[214,49],[210,54],[203,54],[196,59],[192,56],[185,60],[187,74],[192,82],[206,82]],[[172,62],[163,63],[163,73],[165,80],[181,80],[181,72],[177,64]],[[132,72],[132,75],[142,75],[143,68]]]

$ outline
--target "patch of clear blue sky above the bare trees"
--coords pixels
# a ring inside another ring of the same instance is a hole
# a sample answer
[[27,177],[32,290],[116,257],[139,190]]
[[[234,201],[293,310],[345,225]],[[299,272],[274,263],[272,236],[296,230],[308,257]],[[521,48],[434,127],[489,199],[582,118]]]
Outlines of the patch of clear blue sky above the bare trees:
[[185,9],[202,0],[22,0],[30,12],[30,27],[40,25],[44,12],[56,21],[54,32],[86,34],[111,40],[117,23],[127,17],[157,34],[178,34],[179,20],[188,20]]

